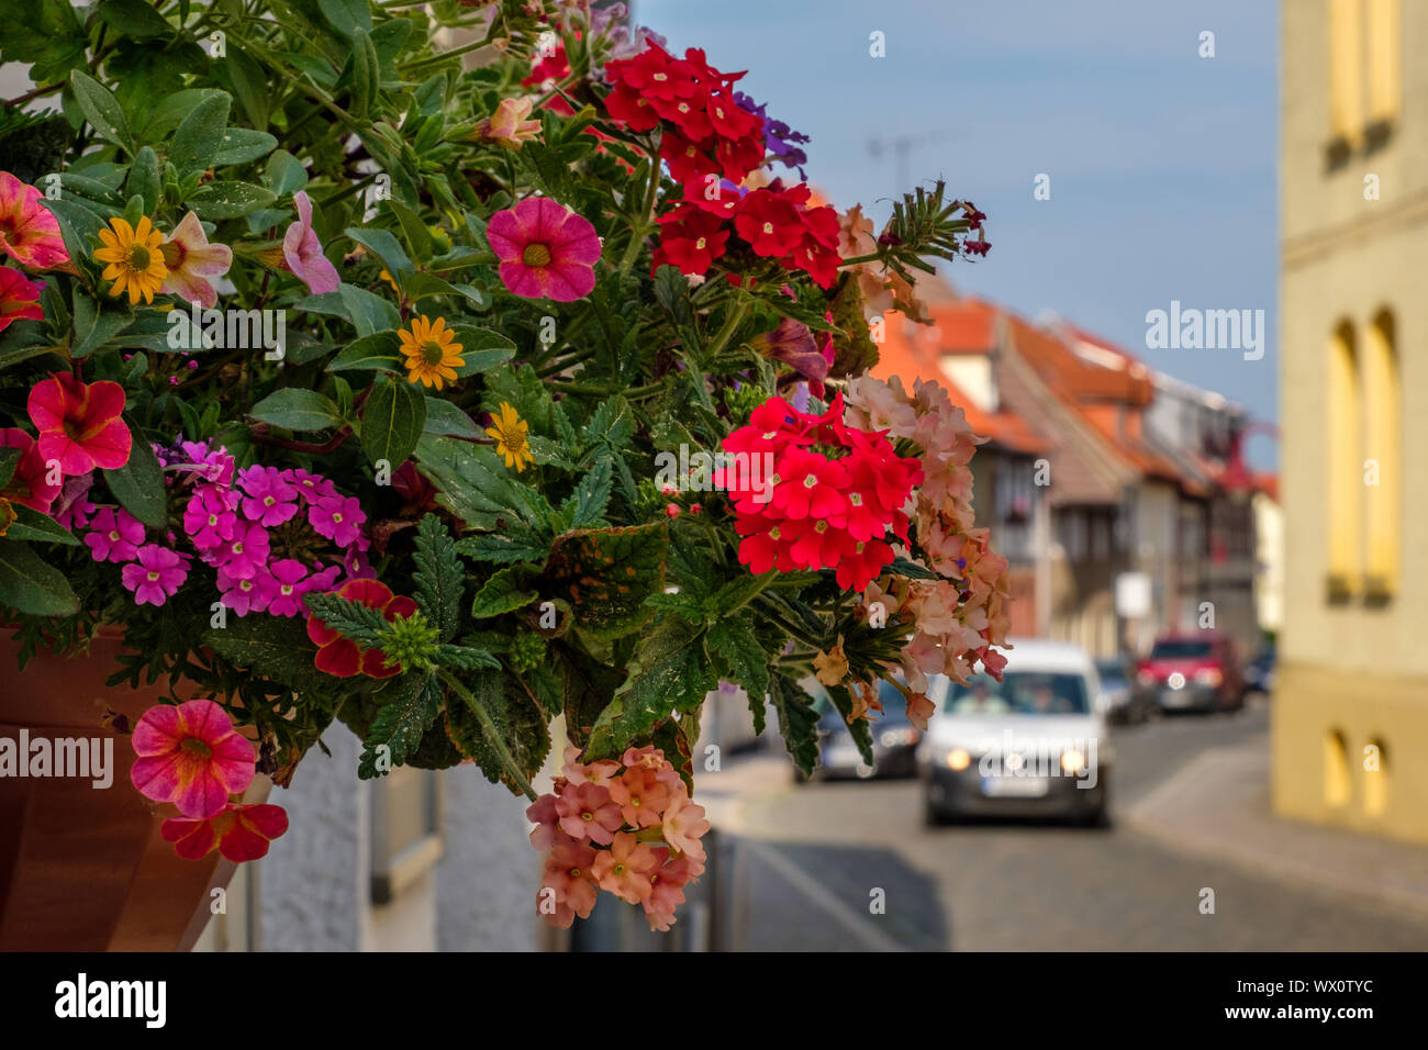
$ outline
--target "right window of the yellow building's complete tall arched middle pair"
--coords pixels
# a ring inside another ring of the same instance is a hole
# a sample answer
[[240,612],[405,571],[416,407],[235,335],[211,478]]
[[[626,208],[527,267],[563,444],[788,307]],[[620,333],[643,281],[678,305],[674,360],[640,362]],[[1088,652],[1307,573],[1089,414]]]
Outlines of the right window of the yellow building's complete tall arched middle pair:
[[1398,350],[1394,314],[1379,310],[1364,340],[1364,539],[1369,597],[1387,599],[1398,586],[1399,491],[1402,489]]

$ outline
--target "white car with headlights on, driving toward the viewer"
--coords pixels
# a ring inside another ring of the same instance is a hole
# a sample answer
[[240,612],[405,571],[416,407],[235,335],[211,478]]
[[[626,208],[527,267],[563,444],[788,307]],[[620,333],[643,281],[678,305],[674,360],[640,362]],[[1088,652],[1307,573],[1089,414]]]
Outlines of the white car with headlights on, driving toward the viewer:
[[924,816],[1061,816],[1108,821],[1112,750],[1100,677],[1084,649],[1012,640],[1001,681],[938,676],[918,747]]

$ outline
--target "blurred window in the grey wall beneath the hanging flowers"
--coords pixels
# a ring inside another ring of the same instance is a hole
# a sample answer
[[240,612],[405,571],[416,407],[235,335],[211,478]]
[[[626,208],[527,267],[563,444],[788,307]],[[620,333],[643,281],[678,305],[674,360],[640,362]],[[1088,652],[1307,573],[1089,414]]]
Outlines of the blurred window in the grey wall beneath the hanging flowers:
[[388,904],[441,859],[441,780],[398,766],[371,791],[371,901]]

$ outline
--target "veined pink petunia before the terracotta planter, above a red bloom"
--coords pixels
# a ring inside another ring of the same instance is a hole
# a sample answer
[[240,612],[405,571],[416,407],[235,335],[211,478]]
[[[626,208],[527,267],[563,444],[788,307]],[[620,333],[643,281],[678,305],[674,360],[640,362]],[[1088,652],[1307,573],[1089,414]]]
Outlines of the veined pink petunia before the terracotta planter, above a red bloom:
[[213,700],[157,704],[134,724],[130,780],[186,817],[213,817],[253,783],[253,744]]

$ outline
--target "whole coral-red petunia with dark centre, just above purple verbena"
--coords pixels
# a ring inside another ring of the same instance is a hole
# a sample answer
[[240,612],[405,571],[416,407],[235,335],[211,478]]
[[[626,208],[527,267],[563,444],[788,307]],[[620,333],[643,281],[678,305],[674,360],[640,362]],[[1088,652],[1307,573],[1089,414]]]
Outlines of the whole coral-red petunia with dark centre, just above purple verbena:
[[40,456],[56,460],[64,474],[94,467],[114,470],[129,463],[133,437],[120,413],[124,387],[110,380],[81,383],[67,371],[40,380],[26,406],[40,431]]

